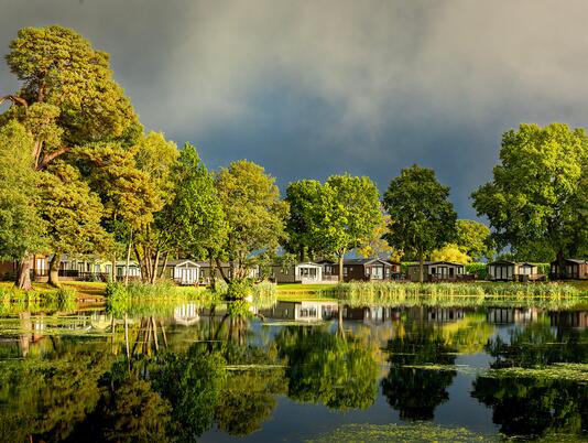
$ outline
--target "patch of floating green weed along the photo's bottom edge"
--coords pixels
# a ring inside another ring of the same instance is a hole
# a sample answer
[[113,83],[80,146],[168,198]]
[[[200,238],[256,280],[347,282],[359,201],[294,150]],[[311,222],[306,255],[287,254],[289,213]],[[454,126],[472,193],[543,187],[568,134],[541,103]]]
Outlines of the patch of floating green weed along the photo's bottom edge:
[[344,424],[329,431],[313,443],[326,442],[498,442],[500,435],[488,435],[466,428],[442,426],[429,422],[412,424]]

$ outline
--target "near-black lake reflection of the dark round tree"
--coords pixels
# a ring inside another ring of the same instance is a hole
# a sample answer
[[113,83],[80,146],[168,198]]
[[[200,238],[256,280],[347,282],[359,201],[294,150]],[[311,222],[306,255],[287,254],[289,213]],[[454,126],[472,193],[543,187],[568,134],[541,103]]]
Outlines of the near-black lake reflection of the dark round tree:
[[447,387],[455,370],[405,367],[405,365],[453,365],[455,348],[433,326],[420,322],[405,325],[406,334],[388,342],[390,372],[382,380],[382,390],[400,417],[431,420],[435,408],[449,399]]

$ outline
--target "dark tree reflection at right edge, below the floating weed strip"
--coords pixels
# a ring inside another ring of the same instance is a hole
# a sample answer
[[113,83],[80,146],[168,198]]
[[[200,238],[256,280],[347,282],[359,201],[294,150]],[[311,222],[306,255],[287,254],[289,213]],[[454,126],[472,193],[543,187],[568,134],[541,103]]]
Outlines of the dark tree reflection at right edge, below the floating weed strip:
[[478,377],[472,397],[493,410],[505,435],[581,434],[588,424],[588,386],[570,381]]

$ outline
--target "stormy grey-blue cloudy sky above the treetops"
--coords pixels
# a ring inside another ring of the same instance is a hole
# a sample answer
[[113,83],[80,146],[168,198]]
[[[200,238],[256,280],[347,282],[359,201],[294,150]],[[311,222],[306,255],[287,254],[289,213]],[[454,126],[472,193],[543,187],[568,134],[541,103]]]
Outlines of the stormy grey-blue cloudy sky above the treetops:
[[[383,193],[418,163],[475,218],[504,131],[586,126],[587,17],[584,0],[0,0],[0,53],[20,28],[73,28],[111,54],[145,129],[209,169],[248,159],[282,192],[348,172]],[[0,95],[18,86],[0,64]]]

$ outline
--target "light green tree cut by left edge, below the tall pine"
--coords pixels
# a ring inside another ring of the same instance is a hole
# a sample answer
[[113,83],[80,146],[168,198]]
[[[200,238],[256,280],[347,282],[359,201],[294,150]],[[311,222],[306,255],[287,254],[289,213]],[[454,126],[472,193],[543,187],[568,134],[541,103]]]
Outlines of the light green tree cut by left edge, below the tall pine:
[[33,139],[25,128],[12,120],[0,127],[0,259],[17,260],[26,269],[20,285],[29,289],[31,253],[44,245],[44,222],[36,210],[40,182],[33,162]]

